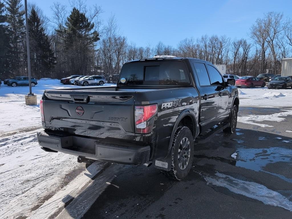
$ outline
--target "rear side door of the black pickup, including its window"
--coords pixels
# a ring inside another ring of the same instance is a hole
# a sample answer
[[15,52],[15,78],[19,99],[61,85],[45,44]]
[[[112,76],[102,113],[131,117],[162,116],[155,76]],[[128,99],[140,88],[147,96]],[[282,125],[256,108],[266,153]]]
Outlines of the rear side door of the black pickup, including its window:
[[218,92],[215,90],[217,86],[211,85],[211,79],[204,62],[193,61],[192,65],[201,94],[201,125],[206,130],[217,124]]

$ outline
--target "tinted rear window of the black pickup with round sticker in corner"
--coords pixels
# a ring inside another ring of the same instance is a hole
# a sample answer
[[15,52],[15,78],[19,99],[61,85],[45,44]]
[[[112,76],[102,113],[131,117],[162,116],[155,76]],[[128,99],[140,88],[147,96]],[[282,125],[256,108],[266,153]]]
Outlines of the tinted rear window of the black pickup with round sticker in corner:
[[118,85],[189,85],[190,77],[181,61],[125,64]]

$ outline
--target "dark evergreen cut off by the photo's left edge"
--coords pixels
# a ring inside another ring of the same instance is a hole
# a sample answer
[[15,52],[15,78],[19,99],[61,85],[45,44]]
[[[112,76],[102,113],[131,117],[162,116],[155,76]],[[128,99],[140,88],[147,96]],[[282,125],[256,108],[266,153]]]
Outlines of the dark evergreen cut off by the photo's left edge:
[[0,1],[0,79],[5,79],[9,76],[9,63],[8,63],[8,34],[7,34],[7,26],[6,15],[4,15],[5,8],[4,3]]

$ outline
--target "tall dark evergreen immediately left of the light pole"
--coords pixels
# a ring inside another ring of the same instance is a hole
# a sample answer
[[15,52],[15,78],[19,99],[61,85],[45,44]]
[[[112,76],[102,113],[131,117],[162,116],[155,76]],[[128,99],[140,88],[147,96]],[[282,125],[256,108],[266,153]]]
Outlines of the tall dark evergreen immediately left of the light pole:
[[25,74],[25,25],[24,14],[22,10],[21,0],[6,0],[7,23],[9,43],[11,49],[9,51],[11,72],[15,74]]

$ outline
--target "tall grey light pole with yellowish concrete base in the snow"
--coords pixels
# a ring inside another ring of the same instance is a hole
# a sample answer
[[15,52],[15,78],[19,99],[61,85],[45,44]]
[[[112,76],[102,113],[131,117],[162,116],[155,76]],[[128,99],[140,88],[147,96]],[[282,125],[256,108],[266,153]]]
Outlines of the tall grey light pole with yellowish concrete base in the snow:
[[27,65],[28,65],[28,83],[29,93],[25,96],[26,105],[37,105],[36,96],[32,93],[32,79],[30,72],[30,53],[29,53],[29,33],[28,33],[28,16],[27,16],[27,0],[24,0],[25,4],[25,22],[26,22],[26,47],[27,47]]

